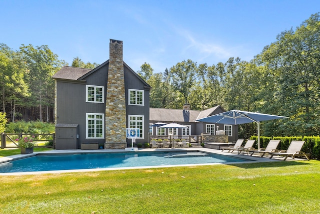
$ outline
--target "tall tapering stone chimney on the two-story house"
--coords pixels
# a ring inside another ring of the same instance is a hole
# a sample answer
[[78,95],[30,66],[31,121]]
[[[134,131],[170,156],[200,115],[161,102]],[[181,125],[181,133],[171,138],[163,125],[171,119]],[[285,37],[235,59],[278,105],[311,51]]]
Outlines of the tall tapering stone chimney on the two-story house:
[[126,147],[126,114],[122,41],[111,40],[105,100],[105,149]]

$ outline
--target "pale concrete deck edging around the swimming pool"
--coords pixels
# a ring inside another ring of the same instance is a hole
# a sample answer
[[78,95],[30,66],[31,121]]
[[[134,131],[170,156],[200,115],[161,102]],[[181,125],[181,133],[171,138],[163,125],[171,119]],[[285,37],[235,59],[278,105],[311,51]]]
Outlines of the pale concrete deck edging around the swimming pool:
[[[227,162],[227,163],[198,163],[198,164],[182,164],[182,165],[160,165],[160,166],[137,166],[137,167],[118,167],[118,168],[93,168],[93,169],[74,169],[74,170],[54,170],[54,171],[32,171],[32,172],[8,172],[0,173],[0,175],[23,175],[23,174],[44,174],[44,173],[67,173],[67,172],[88,172],[88,171],[103,171],[103,170],[124,170],[124,169],[141,169],[141,168],[163,168],[163,167],[176,167],[176,166],[197,166],[197,165],[216,165],[216,164],[243,164],[243,163],[257,163],[257,162],[274,162],[283,160],[281,157],[272,157],[270,159],[268,156],[259,157],[259,156],[250,156],[242,155],[242,153],[237,154],[237,152],[222,152],[221,150],[210,149],[210,148],[142,148],[138,149],[135,152],[148,152],[148,151],[203,151],[207,153],[222,154],[227,156],[233,156],[241,159],[246,159],[244,162]],[[81,150],[81,149],[69,149],[69,150],[49,150],[43,152],[33,152],[31,154],[17,154],[7,157],[0,157],[0,163],[23,159],[26,157],[35,156],[37,154],[79,154],[79,153],[119,153],[126,152],[131,153],[132,151],[125,151],[124,149],[98,149],[98,150]],[[301,158],[288,158],[286,160],[305,160]]]

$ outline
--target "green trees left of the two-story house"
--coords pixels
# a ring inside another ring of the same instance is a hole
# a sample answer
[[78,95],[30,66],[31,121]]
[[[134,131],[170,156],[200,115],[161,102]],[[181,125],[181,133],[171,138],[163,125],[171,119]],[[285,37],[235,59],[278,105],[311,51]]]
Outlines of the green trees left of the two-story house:
[[[1,112],[8,121],[53,122],[54,81],[51,78],[63,65],[68,65],[48,46],[21,45],[14,51],[0,43]],[[94,68],[73,58],[72,66]]]

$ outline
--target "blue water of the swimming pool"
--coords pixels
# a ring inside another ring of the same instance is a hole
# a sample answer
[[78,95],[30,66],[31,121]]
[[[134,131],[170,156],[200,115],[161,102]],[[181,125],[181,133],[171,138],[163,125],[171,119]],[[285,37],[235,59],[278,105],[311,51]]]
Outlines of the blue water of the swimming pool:
[[0,173],[135,166],[241,162],[245,159],[199,151],[81,153],[27,157],[0,164]]

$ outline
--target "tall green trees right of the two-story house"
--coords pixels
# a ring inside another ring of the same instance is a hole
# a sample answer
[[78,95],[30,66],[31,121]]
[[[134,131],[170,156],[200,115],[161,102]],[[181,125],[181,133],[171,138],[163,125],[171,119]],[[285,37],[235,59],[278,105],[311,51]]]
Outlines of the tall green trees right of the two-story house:
[[[265,136],[311,136],[320,130],[320,17],[311,15],[295,30],[277,35],[251,61],[229,58],[216,65],[182,61],[163,73],[147,63],[138,74],[152,87],[150,107],[192,110],[221,105],[287,116],[262,123]],[[243,124],[239,137],[256,134],[256,124]]]

